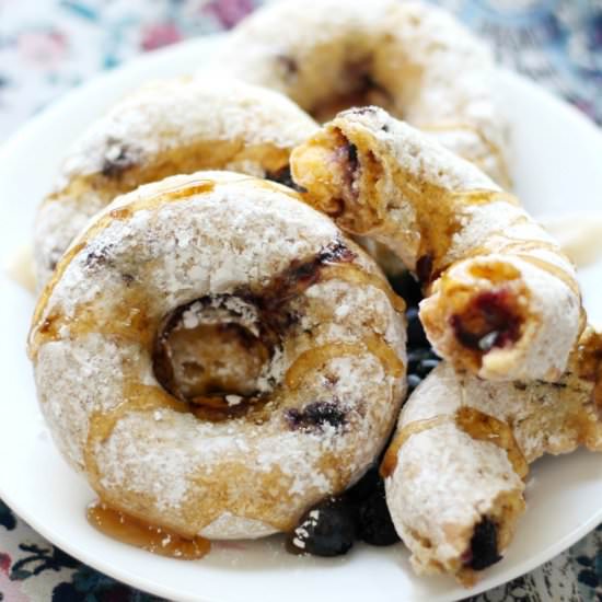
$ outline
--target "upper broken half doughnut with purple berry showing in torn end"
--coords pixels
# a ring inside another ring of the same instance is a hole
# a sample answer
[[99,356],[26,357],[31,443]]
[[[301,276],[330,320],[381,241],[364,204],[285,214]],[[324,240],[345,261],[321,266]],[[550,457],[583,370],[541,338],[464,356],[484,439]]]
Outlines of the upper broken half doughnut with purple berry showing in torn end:
[[575,267],[473,164],[363,107],[297,147],[291,172],[308,202],[418,276],[427,336],[456,369],[490,380],[565,371],[584,326]]

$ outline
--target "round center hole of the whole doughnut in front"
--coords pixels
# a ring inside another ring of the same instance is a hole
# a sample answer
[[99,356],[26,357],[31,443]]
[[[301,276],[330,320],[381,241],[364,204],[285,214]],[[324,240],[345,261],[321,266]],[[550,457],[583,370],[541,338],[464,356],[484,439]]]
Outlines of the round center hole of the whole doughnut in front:
[[219,304],[178,308],[155,344],[159,382],[178,400],[212,407],[257,395],[270,351],[254,324],[245,322]]

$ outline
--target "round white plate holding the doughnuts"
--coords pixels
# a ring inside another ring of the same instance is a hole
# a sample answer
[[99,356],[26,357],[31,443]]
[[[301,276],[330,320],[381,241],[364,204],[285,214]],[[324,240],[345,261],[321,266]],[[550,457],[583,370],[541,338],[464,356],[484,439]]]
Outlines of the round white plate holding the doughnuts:
[[[67,146],[103,109],[149,78],[195,71],[215,48],[204,38],[153,54],[99,78],[33,119],[0,149],[0,257],[31,238],[34,209]],[[210,82],[208,82],[210,84]],[[513,126],[518,193],[536,215],[600,210],[602,136],[581,115],[510,73],[499,84]],[[602,323],[602,264],[582,273],[586,303]],[[476,593],[552,558],[602,520],[602,459],[587,452],[533,467],[529,510],[503,562],[471,591],[418,579],[403,546],[358,545],[344,558],[299,558],[278,537],[216,545],[199,562],[153,556],[94,531],[94,498],[55,450],[38,413],[25,336],[33,299],[0,275],[0,497],[34,529],[84,563],[140,589],[205,602],[448,601]]]

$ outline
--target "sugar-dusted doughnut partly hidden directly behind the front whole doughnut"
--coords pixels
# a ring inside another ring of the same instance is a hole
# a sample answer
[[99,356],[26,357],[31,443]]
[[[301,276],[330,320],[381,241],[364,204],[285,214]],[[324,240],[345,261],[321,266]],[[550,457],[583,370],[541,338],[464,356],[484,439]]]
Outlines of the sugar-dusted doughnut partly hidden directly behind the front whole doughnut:
[[144,85],[93,124],[67,155],[36,219],[38,283],[117,195],[205,169],[281,177],[290,150],[315,128],[288,99],[242,82],[181,78]]

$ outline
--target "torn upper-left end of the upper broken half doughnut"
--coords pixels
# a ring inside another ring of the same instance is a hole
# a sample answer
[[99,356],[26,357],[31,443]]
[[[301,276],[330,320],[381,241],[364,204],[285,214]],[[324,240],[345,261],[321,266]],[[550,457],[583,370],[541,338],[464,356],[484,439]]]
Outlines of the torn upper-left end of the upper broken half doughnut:
[[294,182],[308,190],[305,200],[352,234],[370,234],[383,223],[373,190],[383,166],[361,140],[338,128],[321,131],[293,150]]

